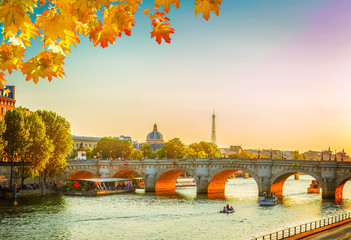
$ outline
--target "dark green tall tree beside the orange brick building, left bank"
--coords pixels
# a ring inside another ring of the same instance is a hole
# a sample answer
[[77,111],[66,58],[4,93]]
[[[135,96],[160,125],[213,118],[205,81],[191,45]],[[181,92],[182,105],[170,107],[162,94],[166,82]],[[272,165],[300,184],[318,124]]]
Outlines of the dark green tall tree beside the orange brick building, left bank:
[[29,133],[25,126],[24,111],[15,108],[7,111],[5,115],[6,130],[3,134],[7,145],[4,148],[5,157],[11,162],[10,185],[12,185],[13,162],[23,157],[28,147]]

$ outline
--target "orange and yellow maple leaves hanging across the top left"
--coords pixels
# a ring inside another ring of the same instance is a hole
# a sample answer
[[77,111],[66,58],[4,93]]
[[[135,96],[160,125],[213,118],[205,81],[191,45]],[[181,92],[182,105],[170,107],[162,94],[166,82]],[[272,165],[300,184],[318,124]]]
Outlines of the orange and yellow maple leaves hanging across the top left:
[[[210,13],[219,14],[222,0],[195,0],[195,15],[202,13],[208,20]],[[151,38],[158,44],[171,42],[170,19],[166,16],[180,0],[154,0],[153,7],[143,12],[151,20]],[[0,69],[9,74],[20,70],[26,80],[35,83],[39,78],[63,77],[65,54],[89,37],[94,46],[103,48],[114,44],[117,37],[131,35],[135,13],[142,8],[142,0],[1,0],[0,24],[3,27],[0,45]],[[162,7],[161,7],[162,6]],[[42,49],[24,61],[26,50],[37,38]],[[0,72],[0,87],[5,74]]]

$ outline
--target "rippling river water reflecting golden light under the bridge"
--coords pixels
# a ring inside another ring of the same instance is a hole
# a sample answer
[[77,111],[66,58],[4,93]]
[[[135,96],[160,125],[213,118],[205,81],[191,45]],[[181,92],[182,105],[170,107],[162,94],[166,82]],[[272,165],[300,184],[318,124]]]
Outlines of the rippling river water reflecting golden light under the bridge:
[[[313,178],[289,178],[280,204],[257,204],[252,178],[230,179],[225,199],[196,195],[128,193],[99,197],[51,195],[0,199],[0,239],[250,239],[283,228],[349,211],[351,184],[344,200],[307,194]],[[225,204],[236,212],[220,214]]]

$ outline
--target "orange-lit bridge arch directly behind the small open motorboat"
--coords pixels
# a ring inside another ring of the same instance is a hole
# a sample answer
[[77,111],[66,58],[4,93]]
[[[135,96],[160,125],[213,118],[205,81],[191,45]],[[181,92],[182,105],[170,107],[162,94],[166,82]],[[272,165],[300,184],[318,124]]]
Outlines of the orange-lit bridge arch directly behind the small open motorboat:
[[207,188],[208,194],[216,195],[216,196],[224,196],[225,185],[227,183],[229,176],[233,175],[238,171],[243,171],[245,173],[248,173],[255,180],[257,184],[258,192],[261,192],[262,186],[260,184],[260,178],[255,172],[251,171],[250,169],[233,167],[231,169],[227,169],[227,168],[218,169],[217,171],[213,172],[210,183]]

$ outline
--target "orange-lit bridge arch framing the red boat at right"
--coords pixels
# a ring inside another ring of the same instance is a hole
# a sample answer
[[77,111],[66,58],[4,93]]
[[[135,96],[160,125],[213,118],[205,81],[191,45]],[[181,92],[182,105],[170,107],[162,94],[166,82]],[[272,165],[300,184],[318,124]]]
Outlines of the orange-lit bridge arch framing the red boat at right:
[[284,187],[284,183],[285,181],[292,175],[295,175],[297,173],[304,173],[307,174],[311,177],[313,177],[314,179],[316,179],[319,183],[319,185],[323,189],[327,189],[327,186],[325,184],[325,182],[323,181],[323,179],[318,176],[317,174],[315,174],[314,172],[310,172],[310,171],[304,171],[304,170],[285,170],[285,171],[281,171],[277,174],[274,174],[274,176],[272,176],[271,179],[271,188],[270,191],[275,193],[276,196],[282,196],[283,195],[283,187]]

